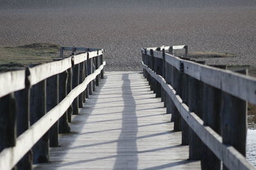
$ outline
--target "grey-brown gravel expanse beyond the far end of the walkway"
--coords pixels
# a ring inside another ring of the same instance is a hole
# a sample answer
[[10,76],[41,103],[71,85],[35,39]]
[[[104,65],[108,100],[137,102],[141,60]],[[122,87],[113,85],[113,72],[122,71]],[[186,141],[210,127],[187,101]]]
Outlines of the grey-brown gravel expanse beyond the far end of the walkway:
[[0,0],[1,46],[106,48],[107,71],[140,70],[142,47],[184,44],[237,56],[207,62],[256,66],[255,0],[19,2]]

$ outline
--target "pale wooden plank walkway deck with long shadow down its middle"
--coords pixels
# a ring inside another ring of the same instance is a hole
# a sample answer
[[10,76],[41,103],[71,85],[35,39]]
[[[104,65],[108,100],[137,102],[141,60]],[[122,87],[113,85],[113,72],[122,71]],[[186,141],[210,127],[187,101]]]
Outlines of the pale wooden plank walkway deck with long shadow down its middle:
[[143,74],[109,72],[35,169],[200,169]]

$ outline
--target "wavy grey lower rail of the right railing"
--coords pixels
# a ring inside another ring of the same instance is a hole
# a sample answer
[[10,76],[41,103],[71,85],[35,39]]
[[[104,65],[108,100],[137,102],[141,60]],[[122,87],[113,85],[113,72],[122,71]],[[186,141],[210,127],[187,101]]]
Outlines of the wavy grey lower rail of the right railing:
[[200,117],[189,111],[188,106],[183,103],[180,96],[177,95],[177,92],[171,85],[166,83],[162,76],[156,74],[143,62],[142,65],[143,69],[145,69],[152,78],[157,80],[161,84],[161,87],[163,87],[166,94],[171,97],[177,110],[189,127],[193,129],[196,135],[202,139],[205,145],[212,150],[218,159],[223,161],[225,166],[229,169],[255,169],[255,167],[253,167],[252,164],[250,164],[243,155],[241,155],[241,153],[237,152],[233,146],[224,145],[222,143],[222,138],[218,133],[212,130],[211,127],[204,125],[204,122]]

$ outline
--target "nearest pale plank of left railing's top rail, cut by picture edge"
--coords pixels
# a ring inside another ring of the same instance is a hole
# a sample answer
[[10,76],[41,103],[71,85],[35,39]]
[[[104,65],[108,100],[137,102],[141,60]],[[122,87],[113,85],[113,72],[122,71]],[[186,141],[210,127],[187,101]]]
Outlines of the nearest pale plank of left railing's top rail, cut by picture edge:
[[0,73],[0,97],[25,89],[25,70]]

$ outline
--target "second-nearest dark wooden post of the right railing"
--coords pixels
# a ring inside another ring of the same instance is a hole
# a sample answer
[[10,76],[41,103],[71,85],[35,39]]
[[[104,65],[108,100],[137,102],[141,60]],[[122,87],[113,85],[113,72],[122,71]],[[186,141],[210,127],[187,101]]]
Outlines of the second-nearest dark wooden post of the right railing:
[[[227,69],[227,66],[213,66],[221,69]],[[211,127],[215,132],[221,135],[221,90],[216,89],[204,83],[204,125]],[[221,169],[221,161],[214,153],[205,146],[204,157],[201,163],[202,169]]]

